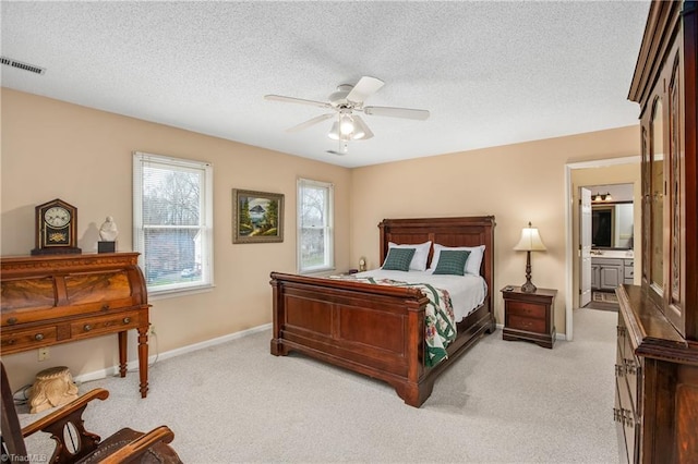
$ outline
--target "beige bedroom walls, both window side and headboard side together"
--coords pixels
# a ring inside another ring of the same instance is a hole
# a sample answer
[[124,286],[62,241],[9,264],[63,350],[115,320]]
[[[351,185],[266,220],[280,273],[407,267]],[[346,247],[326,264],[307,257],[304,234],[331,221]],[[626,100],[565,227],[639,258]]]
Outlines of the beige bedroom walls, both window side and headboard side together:
[[[298,176],[335,184],[336,264],[341,270],[358,267],[360,256],[377,266],[376,225],[384,218],[494,215],[492,290],[498,294],[505,284],[525,281],[526,257],[512,248],[532,221],[547,246],[532,256],[533,282],[559,290],[555,321],[564,332],[565,164],[636,156],[639,146],[639,130],[630,126],[349,170],[5,88],[0,96],[2,255],[34,247],[34,207],[56,197],[79,208],[85,252],[95,249],[98,224],[107,215],[119,223],[119,248],[131,249],[132,151],[214,164],[217,286],[152,301],[158,333],[152,352],[270,321],[269,271],[296,268]],[[286,195],[284,243],[231,243],[233,187]],[[502,298],[496,302],[501,322]],[[115,347],[116,337],[53,346],[50,365],[67,365],[73,375],[95,371],[116,364]],[[13,383],[27,383],[47,367],[34,351],[3,356],[3,362]]]

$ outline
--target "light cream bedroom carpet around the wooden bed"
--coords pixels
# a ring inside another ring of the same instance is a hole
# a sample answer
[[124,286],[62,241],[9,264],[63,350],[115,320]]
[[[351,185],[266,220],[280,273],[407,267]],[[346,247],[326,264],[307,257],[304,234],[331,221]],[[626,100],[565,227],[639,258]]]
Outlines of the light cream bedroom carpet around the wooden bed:
[[574,317],[575,340],[554,350],[485,335],[421,408],[383,382],[272,356],[265,331],[155,364],[145,400],[136,373],[82,384],[111,392],[85,424],[103,437],[166,424],[186,463],[615,463],[617,315]]

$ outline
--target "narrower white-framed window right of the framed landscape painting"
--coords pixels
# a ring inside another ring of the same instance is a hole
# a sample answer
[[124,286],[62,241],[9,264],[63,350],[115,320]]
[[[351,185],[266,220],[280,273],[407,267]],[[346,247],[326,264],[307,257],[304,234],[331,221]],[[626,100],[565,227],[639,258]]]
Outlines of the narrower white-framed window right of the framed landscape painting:
[[298,180],[298,268],[299,272],[333,269],[333,184]]

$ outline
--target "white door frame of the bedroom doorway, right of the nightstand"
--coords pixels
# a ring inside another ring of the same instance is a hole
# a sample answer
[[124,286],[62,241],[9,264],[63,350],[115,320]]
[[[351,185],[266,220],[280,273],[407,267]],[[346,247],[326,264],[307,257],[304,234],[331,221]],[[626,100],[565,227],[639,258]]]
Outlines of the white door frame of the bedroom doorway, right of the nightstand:
[[569,162],[565,164],[565,339],[573,340],[573,211],[578,205],[574,205],[574,192],[571,185],[571,171],[574,169],[607,168],[616,164],[640,163],[640,156],[623,158],[595,159],[593,161]]

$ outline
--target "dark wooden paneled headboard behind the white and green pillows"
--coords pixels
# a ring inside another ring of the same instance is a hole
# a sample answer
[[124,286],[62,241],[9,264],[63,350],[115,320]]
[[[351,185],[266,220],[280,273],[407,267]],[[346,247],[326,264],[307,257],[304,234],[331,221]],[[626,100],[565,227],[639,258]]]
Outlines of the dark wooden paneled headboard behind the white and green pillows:
[[[484,245],[480,273],[488,282],[490,298],[494,289],[494,216],[462,218],[384,219],[381,229],[381,260],[388,253],[388,242],[400,244],[438,243],[445,246]],[[431,262],[433,248],[429,252]],[[490,302],[494,303],[493,301]],[[494,307],[494,306],[492,306]]]

